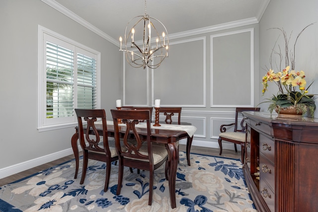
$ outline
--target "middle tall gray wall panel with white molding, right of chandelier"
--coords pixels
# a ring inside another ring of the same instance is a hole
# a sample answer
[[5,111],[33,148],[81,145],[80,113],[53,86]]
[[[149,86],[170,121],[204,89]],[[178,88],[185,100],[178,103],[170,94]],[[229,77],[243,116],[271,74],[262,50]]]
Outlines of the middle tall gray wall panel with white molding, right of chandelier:
[[169,43],[169,57],[152,71],[152,96],[162,106],[205,107],[205,43],[206,37]]

